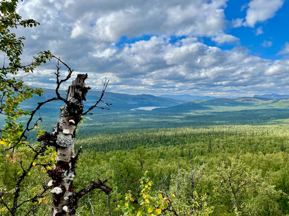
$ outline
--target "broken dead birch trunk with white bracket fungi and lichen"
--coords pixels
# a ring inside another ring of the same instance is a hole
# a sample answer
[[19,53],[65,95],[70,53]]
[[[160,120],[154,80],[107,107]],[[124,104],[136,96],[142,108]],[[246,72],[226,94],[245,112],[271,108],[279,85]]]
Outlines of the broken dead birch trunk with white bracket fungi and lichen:
[[76,213],[78,200],[88,192],[99,188],[106,194],[109,194],[111,188],[105,185],[105,181],[95,182],[83,190],[75,193],[73,191],[73,177],[75,175],[75,164],[80,154],[81,148],[74,155],[74,139],[77,124],[81,121],[83,114],[82,101],[86,100],[85,95],[90,88],[85,87],[84,81],[87,74],[79,74],[72,82],[67,91],[66,105],[60,111],[58,124],[54,127],[51,134],[45,133],[38,138],[38,141],[44,141],[47,145],[56,147],[57,159],[55,167],[47,170],[51,177],[48,186],[53,187],[53,205],[51,215],[53,216],[71,216]]

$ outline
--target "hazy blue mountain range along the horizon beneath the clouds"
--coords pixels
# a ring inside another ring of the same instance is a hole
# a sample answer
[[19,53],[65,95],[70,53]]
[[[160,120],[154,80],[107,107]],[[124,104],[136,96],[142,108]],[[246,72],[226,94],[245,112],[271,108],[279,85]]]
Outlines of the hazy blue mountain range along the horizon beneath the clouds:
[[[43,89],[42,97],[34,97],[24,101],[21,106],[23,109],[33,110],[38,102],[45,101],[49,98],[55,97],[55,90]],[[66,91],[60,90],[60,95],[66,97]],[[84,109],[88,109],[94,105],[95,101],[99,99],[100,91],[89,91],[84,101]],[[104,103],[99,104],[100,107],[110,108],[111,111],[125,111],[137,109],[139,107],[162,107],[155,110],[159,111],[190,111],[190,110],[205,110],[215,109],[216,107],[286,107],[289,106],[289,95],[286,94],[264,94],[255,95],[254,97],[239,97],[239,98],[217,98],[213,96],[192,96],[184,95],[161,95],[153,96],[147,94],[130,95],[119,94],[113,92],[105,92],[103,101],[112,104],[110,107]],[[62,101],[54,101],[47,103],[42,107],[40,113],[54,113],[59,112],[59,108],[64,103]],[[94,109],[92,113],[103,112],[102,109]]]

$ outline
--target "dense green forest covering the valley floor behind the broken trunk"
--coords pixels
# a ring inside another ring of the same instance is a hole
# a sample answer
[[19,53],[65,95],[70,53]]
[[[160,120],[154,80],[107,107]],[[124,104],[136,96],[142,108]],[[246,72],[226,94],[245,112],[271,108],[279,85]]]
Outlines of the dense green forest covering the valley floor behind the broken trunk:
[[[75,190],[91,179],[109,179],[112,192],[90,192],[79,203],[77,215],[123,215],[128,196],[129,206],[137,211],[139,179],[146,171],[153,182],[151,190],[162,191],[169,200],[170,211],[163,215],[287,215],[288,113],[232,108],[186,113],[97,111],[85,116],[75,141],[75,151],[80,146],[84,150],[77,162]],[[55,124],[49,115],[42,120],[43,128]],[[18,168],[8,165],[1,168],[5,176],[1,184],[13,190]],[[21,193],[23,200],[41,193],[42,182],[49,181],[36,167],[31,176]],[[27,205],[40,204],[38,215],[49,215],[50,203],[47,195]]]

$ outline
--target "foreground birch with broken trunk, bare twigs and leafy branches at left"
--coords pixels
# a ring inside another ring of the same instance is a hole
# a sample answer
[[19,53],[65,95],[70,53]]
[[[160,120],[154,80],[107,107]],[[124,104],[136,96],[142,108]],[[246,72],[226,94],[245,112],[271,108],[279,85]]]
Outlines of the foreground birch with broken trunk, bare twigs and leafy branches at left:
[[[25,37],[17,37],[11,29],[17,27],[33,27],[39,25],[35,20],[22,20],[16,13],[18,0],[3,0],[0,2],[0,49],[3,54],[3,66],[0,68],[0,114],[5,116],[5,126],[0,128],[0,174],[2,168],[9,166],[12,162],[14,170],[17,170],[16,181],[11,186],[0,181],[0,214],[7,215],[39,215],[38,207],[47,204],[49,191],[51,192],[52,210],[51,215],[74,215],[78,201],[90,191],[98,188],[105,194],[109,194],[111,188],[105,185],[108,181],[91,180],[91,183],[78,192],[73,190],[73,177],[75,176],[75,164],[81,148],[74,154],[74,139],[77,124],[81,116],[88,114],[92,109],[99,107],[103,102],[102,97],[108,81],[104,82],[103,90],[98,101],[88,110],[83,110],[82,101],[90,89],[85,86],[87,74],[79,74],[68,88],[67,97],[62,98],[59,88],[62,83],[71,78],[73,70],[60,58],[52,55],[49,51],[39,52],[27,65],[21,63],[23,52],[23,40]],[[56,59],[57,87],[55,97],[38,103],[33,111],[23,110],[20,104],[23,100],[35,95],[41,96],[42,90],[26,86],[23,79],[15,78],[19,71],[32,73],[33,70],[47,60]],[[64,65],[68,72],[64,79],[60,79],[60,66]],[[42,130],[38,123],[42,118],[34,121],[37,111],[46,103],[51,101],[63,101],[58,123],[53,132]],[[104,103],[106,104],[106,103]],[[106,104],[109,105],[109,104]],[[101,107],[102,109],[107,109]],[[19,122],[19,117],[27,115],[25,124]],[[38,130],[38,142],[28,143],[27,132]],[[6,157],[5,157],[6,156]],[[29,158],[29,160],[27,159]],[[25,182],[29,182],[31,173],[41,167],[52,179],[49,182],[39,184],[41,187],[33,187],[29,196],[24,193]]]

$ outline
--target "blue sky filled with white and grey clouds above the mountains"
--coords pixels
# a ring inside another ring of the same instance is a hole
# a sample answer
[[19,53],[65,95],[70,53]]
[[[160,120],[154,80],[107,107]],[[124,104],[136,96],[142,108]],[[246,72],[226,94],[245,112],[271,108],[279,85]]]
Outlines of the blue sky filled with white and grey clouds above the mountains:
[[[26,37],[21,60],[50,50],[74,77],[88,73],[92,90],[106,77],[107,91],[125,94],[289,92],[285,0],[24,0],[17,12],[40,22],[18,28]],[[55,88],[55,70],[51,61],[19,75]]]

